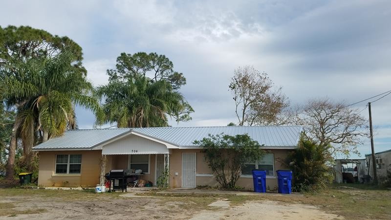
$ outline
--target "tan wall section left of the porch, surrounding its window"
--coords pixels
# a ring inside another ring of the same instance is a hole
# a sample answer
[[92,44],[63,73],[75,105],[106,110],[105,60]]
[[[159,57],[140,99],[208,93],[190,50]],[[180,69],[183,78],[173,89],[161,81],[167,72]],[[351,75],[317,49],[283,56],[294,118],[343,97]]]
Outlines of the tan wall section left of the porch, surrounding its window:
[[[54,174],[57,154],[82,154],[80,175]],[[39,186],[92,187],[99,183],[102,152],[96,151],[41,151],[38,174]]]

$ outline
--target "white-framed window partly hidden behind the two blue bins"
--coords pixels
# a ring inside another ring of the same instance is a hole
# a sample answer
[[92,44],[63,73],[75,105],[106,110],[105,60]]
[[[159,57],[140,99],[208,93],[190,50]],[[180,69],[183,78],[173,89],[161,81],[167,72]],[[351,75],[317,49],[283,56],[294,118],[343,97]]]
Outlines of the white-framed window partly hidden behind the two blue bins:
[[265,170],[266,176],[274,176],[274,154],[265,154],[261,160],[248,162],[241,168],[242,175],[252,175],[251,170]]

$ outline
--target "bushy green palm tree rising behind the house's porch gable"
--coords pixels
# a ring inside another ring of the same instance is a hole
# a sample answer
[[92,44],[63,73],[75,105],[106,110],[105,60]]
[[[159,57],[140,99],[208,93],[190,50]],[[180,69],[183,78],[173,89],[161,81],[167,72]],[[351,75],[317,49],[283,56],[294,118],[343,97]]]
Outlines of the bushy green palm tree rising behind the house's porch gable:
[[[168,126],[168,116],[179,117],[190,106],[170,83],[153,82],[145,76],[128,81],[111,80],[97,95],[105,99],[106,118],[100,124],[117,122],[119,128]],[[190,107],[191,108],[191,107]]]

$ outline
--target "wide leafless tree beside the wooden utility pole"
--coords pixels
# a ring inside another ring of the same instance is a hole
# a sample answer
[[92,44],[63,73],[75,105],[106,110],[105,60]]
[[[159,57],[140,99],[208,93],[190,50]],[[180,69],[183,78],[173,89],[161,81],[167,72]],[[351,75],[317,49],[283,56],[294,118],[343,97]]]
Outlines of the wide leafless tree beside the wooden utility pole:
[[[328,98],[309,100],[303,107],[306,135],[323,146],[329,146],[332,153],[358,153],[361,138],[368,136],[367,120],[359,110],[345,108],[345,103],[334,103]],[[331,146],[332,145],[332,146]]]

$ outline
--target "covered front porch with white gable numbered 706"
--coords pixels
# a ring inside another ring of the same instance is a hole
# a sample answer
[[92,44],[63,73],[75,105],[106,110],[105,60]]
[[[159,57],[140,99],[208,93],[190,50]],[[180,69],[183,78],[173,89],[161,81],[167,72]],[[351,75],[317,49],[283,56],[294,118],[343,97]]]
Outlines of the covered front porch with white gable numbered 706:
[[[166,143],[150,137],[130,133],[102,146],[100,184],[111,170],[124,170],[138,179],[138,185],[156,186],[159,176],[169,169],[170,154]],[[128,181],[132,182],[131,178]]]

